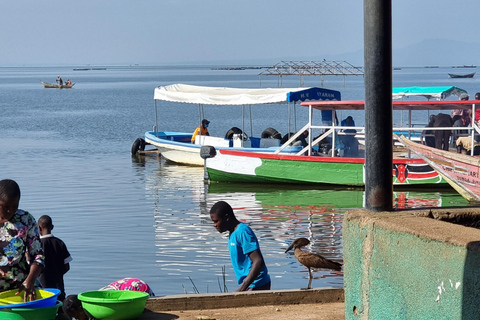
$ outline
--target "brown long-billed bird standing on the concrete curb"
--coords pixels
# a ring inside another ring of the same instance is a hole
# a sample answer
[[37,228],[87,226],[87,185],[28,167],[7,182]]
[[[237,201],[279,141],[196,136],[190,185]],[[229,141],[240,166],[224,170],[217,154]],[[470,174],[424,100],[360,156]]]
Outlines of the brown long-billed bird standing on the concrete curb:
[[336,271],[342,270],[342,265],[340,263],[326,259],[319,254],[305,252],[305,251],[302,251],[302,249],[300,249],[301,247],[304,247],[309,243],[310,241],[306,238],[298,238],[292,242],[292,244],[288,247],[287,250],[285,250],[285,252],[288,252],[292,248],[295,248],[295,251],[294,251],[295,258],[297,258],[298,262],[300,262],[301,264],[303,264],[305,267],[308,268],[310,279],[308,281],[307,289],[311,289],[311,284],[313,279],[311,268],[332,269]]

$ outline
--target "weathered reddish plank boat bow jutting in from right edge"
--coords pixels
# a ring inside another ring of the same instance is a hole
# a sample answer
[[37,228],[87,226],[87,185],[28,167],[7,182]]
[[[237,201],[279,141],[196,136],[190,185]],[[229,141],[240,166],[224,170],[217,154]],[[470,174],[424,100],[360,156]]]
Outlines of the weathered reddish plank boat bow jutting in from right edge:
[[[434,168],[470,202],[480,202],[480,158],[431,148],[400,136],[401,141]],[[472,137],[473,139],[473,137]]]

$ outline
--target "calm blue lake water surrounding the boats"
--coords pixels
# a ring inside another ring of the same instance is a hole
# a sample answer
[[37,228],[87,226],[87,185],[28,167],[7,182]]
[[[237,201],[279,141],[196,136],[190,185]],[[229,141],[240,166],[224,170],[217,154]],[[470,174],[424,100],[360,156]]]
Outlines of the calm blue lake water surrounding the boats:
[[[307,237],[314,241],[312,250],[342,259],[343,213],[363,205],[362,191],[205,185],[201,168],[130,155],[133,141],[154,125],[156,86],[259,87],[258,70],[73,68],[0,68],[0,177],[20,184],[22,209],[37,219],[52,216],[53,233],[74,259],[65,276],[67,294],[122,277],[146,280],[157,295],[191,293],[194,286],[201,293],[219,292],[224,266],[228,290],[234,291],[226,235],[213,228],[208,214],[218,200],[231,203],[238,218],[255,230],[273,289],[307,285],[307,270],[284,253],[293,238]],[[449,79],[452,70],[394,71],[394,85],[456,85],[471,96],[480,91],[477,78]],[[57,75],[75,87],[44,89],[40,84],[54,82]],[[296,87],[299,78],[283,79],[283,84]],[[320,79],[306,78],[305,85],[319,86]],[[263,77],[261,86],[276,87],[277,79]],[[325,87],[341,91],[344,100],[363,99],[360,77],[347,78],[345,86],[340,77],[327,78]],[[252,113],[255,135],[267,127],[288,130],[285,106],[255,106]],[[193,131],[197,114],[197,106],[164,103],[161,129]],[[362,114],[353,115],[362,125]],[[239,107],[212,107],[205,116],[212,121],[211,133],[223,136],[240,126],[242,113]],[[299,112],[299,125],[305,116]],[[396,192],[394,198],[399,208],[466,205],[448,190]],[[315,277],[315,287],[343,286],[342,274],[318,271]]]

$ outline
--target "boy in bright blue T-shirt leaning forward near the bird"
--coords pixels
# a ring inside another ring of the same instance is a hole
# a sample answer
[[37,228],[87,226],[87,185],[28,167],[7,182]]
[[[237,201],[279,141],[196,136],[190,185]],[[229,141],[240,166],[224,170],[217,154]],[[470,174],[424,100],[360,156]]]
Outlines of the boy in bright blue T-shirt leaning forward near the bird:
[[215,203],[210,218],[218,232],[228,231],[228,250],[233,270],[240,285],[237,291],[270,290],[270,276],[252,229],[237,220],[225,201]]

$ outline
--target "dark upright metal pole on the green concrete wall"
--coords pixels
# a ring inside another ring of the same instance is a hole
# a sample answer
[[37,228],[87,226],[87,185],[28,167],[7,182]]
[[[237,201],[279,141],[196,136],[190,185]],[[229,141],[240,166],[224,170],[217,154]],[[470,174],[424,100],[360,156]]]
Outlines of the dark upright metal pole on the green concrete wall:
[[365,206],[393,209],[392,1],[364,0]]

